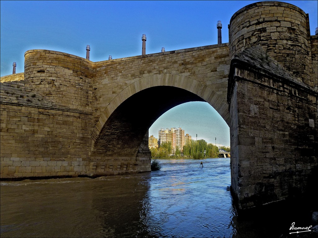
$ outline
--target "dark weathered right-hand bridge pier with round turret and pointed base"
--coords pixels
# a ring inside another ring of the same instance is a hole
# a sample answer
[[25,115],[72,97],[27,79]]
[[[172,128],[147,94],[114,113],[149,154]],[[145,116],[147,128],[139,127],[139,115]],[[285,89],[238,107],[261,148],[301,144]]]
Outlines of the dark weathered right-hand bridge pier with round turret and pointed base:
[[231,190],[239,209],[311,190],[318,157],[317,64],[311,64],[317,37],[309,32],[308,15],[282,2],[252,3],[231,18],[227,101]]

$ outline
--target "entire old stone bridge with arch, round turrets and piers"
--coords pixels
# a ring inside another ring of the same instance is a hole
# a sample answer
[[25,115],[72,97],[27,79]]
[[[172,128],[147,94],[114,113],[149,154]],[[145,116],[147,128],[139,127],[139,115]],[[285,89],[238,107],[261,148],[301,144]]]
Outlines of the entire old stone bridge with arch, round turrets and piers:
[[230,127],[240,209],[306,194],[317,171],[317,53],[308,14],[281,2],[237,11],[229,43],[102,62],[29,50],[24,73],[1,77],[1,179],[150,171],[152,123],[204,101]]

